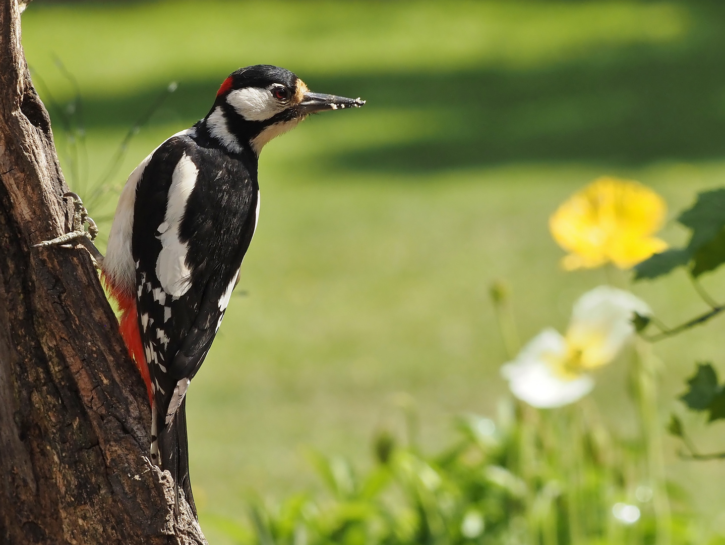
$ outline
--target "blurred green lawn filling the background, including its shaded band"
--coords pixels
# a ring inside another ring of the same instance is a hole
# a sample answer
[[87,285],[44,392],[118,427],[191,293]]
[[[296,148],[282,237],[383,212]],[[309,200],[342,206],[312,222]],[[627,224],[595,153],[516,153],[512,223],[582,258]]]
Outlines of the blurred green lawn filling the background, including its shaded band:
[[[282,65],[315,91],[368,99],[262,154],[247,296],[233,298],[188,394],[202,525],[205,513],[241,516],[247,491],[309,483],[300,446],[366,462],[374,430],[395,418],[394,393],[417,399],[428,446],[447,438],[452,414],[492,413],[506,356],[489,283],[513,287],[526,340],[566,327],[573,300],[606,281],[558,268],[547,218],[559,202],[610,173],[654,187],[676,216],[724,184],[723,36],[716,1],[33,2],[28,62],[60,109],[73,91],[54,59],[78,81],[91,181],[169,81],[178,91],[133,139],[115,187],[203,117],[239,66]],[[116,198],[91,212],[107,216]],[[725,298],[717,276],[705,284]],[[684,275],[634,291],[668,323],[702,310]],[[723,333],[720,321],[658,346],[663,419],[694,361],[725,368]],[[621,366],[600,374],[595,398],[631,432]],[[725,533],[721,465],[668,449],[671,475]]]

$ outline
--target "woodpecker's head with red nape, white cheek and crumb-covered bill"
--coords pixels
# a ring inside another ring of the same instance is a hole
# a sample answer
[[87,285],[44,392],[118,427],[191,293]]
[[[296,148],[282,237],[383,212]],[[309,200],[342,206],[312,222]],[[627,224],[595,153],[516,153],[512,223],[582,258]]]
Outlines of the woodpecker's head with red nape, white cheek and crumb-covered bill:
[[210,135],[233,152],[244,144],[260,155],[275,136],[289,131],[307,115],[361,107],[364,100],[312,93],[284,68],[254,65],[231,73],[221,84],[206,122]]

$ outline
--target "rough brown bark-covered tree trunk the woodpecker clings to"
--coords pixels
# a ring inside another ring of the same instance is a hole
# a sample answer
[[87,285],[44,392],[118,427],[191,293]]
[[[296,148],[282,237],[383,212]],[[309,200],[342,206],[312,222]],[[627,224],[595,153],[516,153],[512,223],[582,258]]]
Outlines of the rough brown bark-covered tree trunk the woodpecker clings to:
[[0,544],[205,544],[146,459],[146,390],[67,229],[50,119],[0,0]]

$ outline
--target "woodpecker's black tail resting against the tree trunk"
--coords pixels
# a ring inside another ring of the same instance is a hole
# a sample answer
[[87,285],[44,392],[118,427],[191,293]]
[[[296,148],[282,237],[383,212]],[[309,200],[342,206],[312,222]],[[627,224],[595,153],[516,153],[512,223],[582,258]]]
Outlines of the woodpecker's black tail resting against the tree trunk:
[[[163,417],[162,417],[163,418]],[[181,486],[186,502],[196,515],[196,504],[194,504],[194,495],[191,493],[191,481],[188,477],[188,438],[186,436],[186,398],[181,401],[173,420],[169,425],[165,426],[159,433],[159,454],[161,458],[162,470],[171,473],[174,480],[174,490],[176,496],[175,514],[178,515],[179,493]]]

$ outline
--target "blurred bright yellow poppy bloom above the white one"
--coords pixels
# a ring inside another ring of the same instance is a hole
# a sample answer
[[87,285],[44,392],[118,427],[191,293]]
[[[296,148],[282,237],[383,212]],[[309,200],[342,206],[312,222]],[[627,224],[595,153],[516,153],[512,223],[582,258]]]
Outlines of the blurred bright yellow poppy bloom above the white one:
[[603,176],[573,194],[549,218],[555,241],[567,250],[564,269],[594,269],[612,262],[630,269],[667,243],[653,237],[667,213],[665,200],[633,180]]

